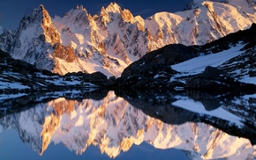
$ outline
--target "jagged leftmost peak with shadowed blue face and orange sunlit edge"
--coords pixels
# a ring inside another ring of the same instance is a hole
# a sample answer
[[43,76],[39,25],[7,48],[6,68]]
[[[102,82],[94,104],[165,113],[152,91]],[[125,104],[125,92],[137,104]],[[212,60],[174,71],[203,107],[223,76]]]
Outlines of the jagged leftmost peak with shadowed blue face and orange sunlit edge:
[[39,69],[53,70],[56,58],[67,62],[75,59],[74,50],[60,44],[60,35],[42,5],[22,18],[16,31],[2,33],[1,39],[4,51]]

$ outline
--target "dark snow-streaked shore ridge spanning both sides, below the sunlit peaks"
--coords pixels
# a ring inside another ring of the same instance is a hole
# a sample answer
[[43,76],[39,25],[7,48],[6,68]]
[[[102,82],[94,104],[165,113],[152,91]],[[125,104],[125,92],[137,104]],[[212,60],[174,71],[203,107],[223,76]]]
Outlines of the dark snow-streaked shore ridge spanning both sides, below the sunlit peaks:
[[[204,46],[167,45],[132,62],[117,79],[108,78],[101,72],[80,71],[60,76],[15,60],[0,50],[0,88],[4,93],[29,93],[64,91],[72,87],[80,90],[89,83],[112,91],[134,88],[168,92],[181,87],[183,90],[211,89],[210,92],[215,92],[222,89],[223,92],[251,93],[256,87],[255,27],[252,24],[250,29],[230,33]],[[55,50],[62,49],[53,46]]]

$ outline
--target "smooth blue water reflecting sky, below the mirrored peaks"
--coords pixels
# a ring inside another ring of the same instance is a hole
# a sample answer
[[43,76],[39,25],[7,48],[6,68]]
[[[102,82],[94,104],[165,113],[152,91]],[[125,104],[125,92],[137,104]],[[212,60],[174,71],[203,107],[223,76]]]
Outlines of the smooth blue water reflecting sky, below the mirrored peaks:
[[[98,147],[90,146],[81,155],[66,149],[63,144],[49,144],[48,149],[40,156],[29,145],[20,141],[19,135],[14,130],[5,131],[1,137],[1,159],[113,159],[102,154]],[[15,154],[13,153],[15,150]],[[184,152],[178,149],[155,149],[146,142],[139,146],[132,146],[127,152],[120,153],[115,159],[188,159]]]

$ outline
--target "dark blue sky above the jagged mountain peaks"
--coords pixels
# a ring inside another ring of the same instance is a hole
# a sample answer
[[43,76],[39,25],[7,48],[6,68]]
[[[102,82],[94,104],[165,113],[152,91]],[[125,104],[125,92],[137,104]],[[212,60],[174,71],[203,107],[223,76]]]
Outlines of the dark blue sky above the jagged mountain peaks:
[[183,11],[186,4],[192,0],[7,0],[0,3],[0,26],[7,29],[16,29],[19,26],[21,18],[28,15],[32,10],[43,4],[44,8],[49,11],[51,18],[55,16],[62,17],[65,12],[75,9],[76,6],[83,5],[87,11],[94,15],[101,11],[102,6],[107,7],[111,2],[116,2],[121,8],[128,9],[133,16],[140,15],[147,18],[156,12]]

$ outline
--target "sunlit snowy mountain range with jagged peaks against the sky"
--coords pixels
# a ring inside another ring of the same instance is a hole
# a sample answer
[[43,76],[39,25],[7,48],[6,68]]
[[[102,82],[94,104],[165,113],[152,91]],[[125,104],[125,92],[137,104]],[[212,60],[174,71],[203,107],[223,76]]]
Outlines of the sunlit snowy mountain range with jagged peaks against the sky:
[[254,1],[195,4],[191,10],[159,12],[147,19],[133,17],[118,4],[102,7],[93,16],[79,6],[64,17],[50,18],[41,5],[21,20],[14,34],[0,36],[0,47],[14,58],[61,75],[102,71],[120,76],[131,62],[157,48],[206,44],[256,22]]

